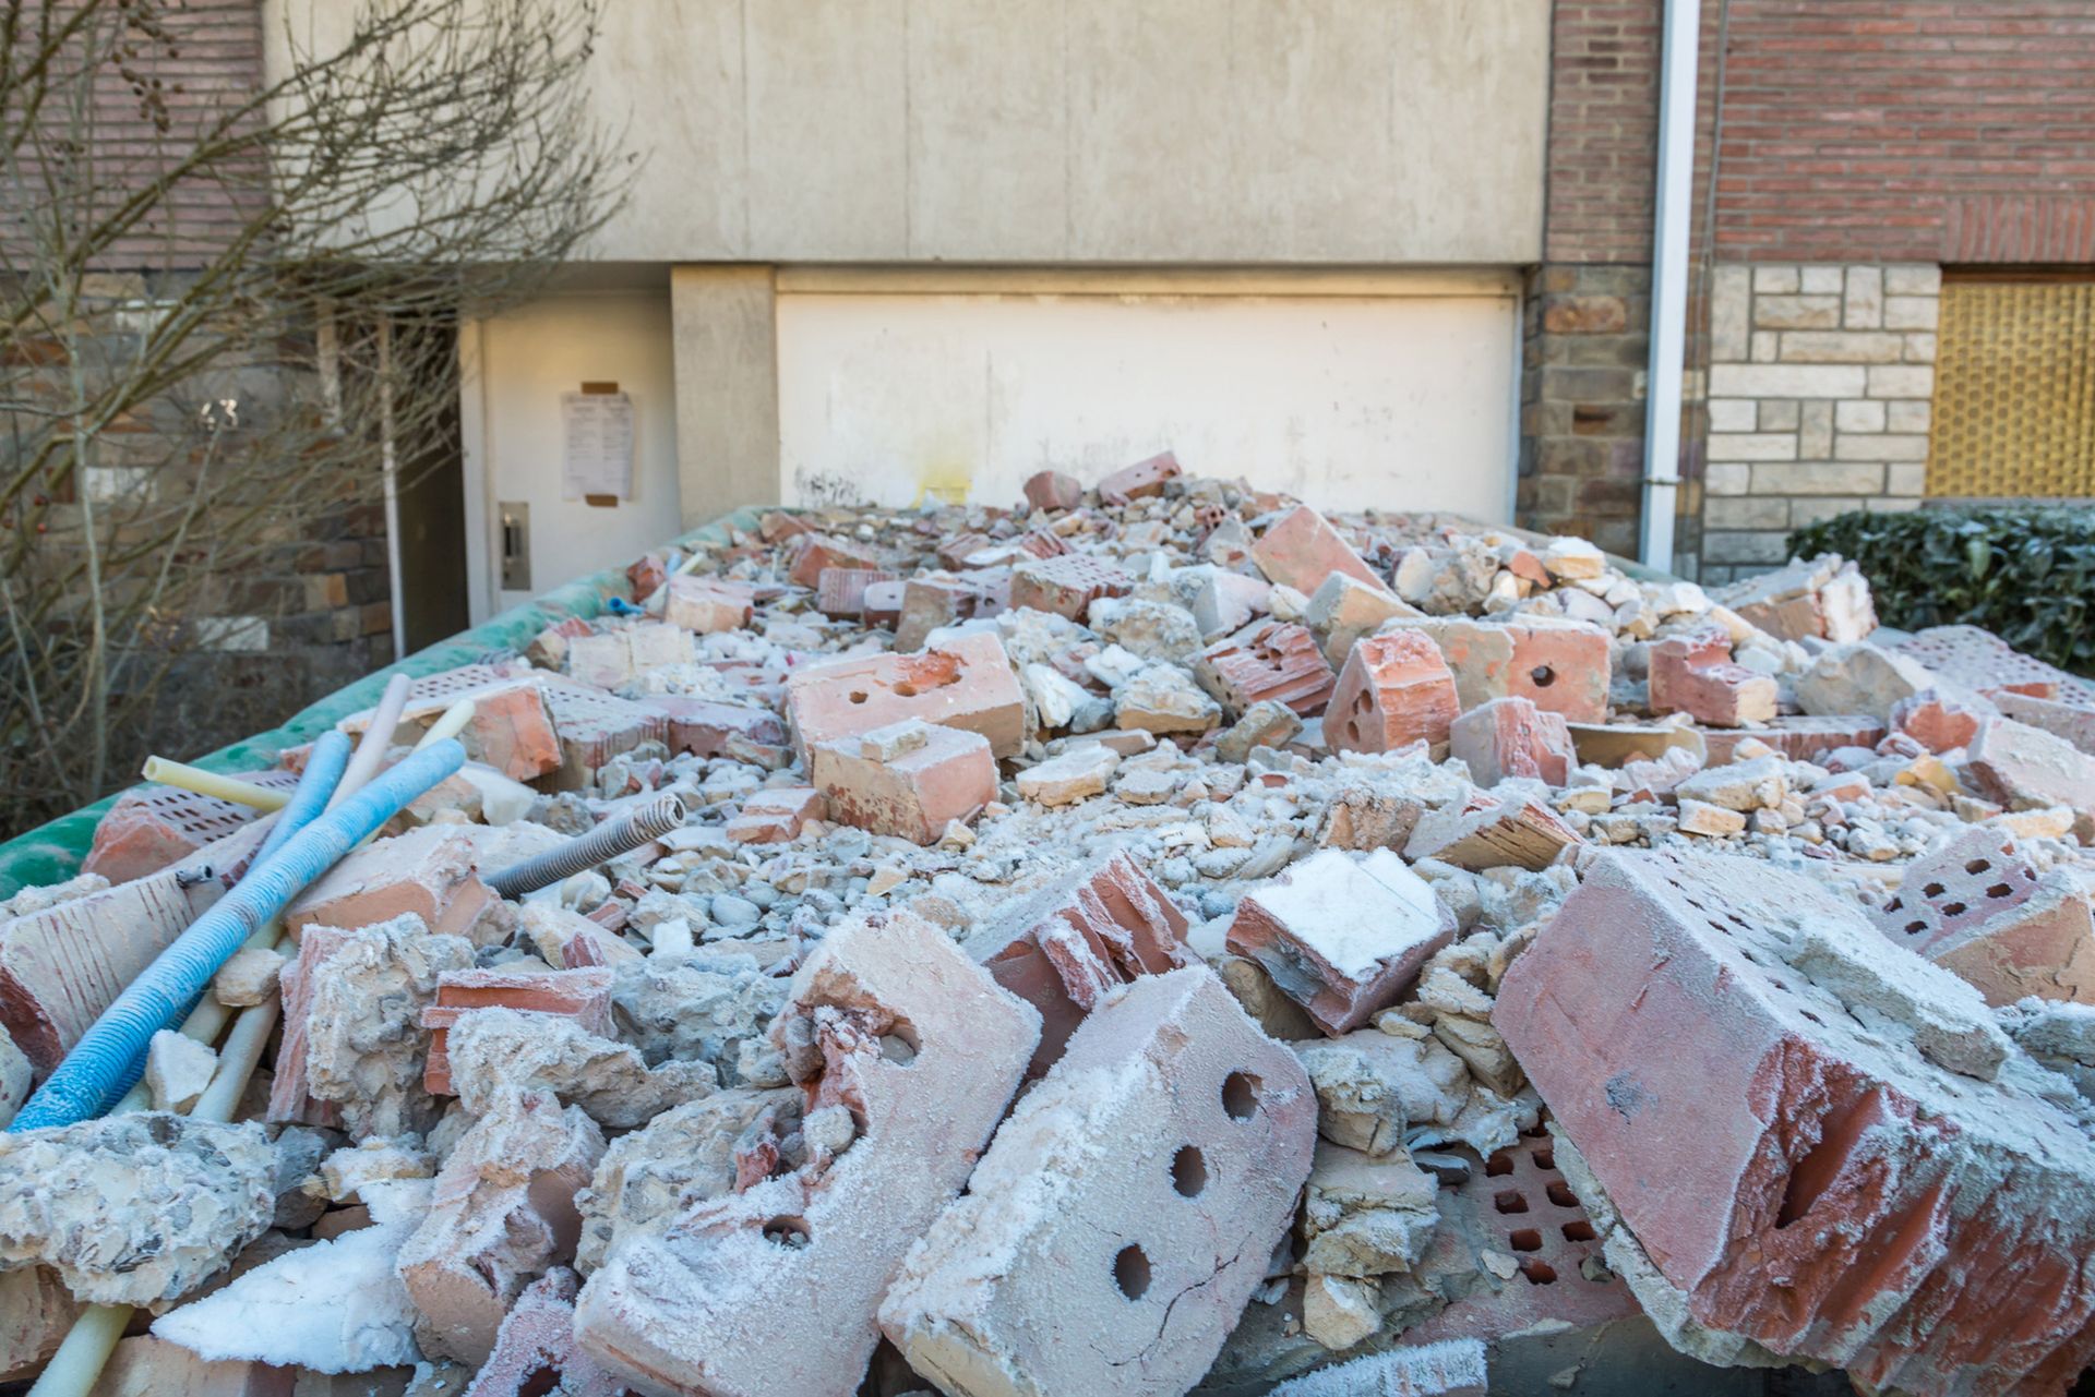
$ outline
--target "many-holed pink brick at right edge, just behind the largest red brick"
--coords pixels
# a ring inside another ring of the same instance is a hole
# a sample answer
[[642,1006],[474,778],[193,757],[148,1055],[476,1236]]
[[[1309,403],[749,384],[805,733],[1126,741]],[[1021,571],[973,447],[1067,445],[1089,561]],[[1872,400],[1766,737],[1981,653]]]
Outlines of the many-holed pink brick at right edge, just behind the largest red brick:
[[1969,980],[1986,1003],[2095,1003],[2095,917],[2078,880],[2038,873],[2015,840],[1971,827],[1906,865],[1877,930]]

